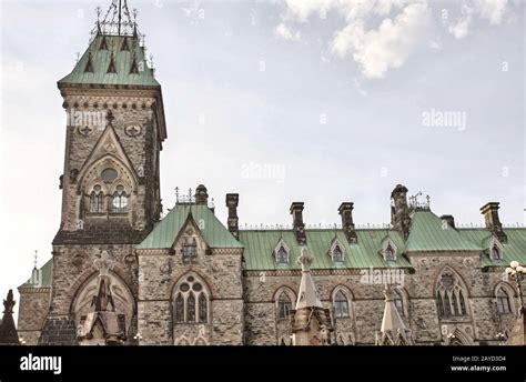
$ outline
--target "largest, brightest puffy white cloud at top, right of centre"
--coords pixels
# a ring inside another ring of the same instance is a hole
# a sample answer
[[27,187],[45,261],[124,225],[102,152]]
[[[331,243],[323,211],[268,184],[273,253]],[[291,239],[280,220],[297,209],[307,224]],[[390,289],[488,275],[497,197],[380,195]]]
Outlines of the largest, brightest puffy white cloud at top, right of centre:
[[332,49],[342,58],[352,53],[366,78],[384,78],[388,69],[407,60],[428,18],[427,3],[419,2],[406,6],[393,20],[384,19],[377,29],[366,30],[364,21],[357,20],[336,33]]

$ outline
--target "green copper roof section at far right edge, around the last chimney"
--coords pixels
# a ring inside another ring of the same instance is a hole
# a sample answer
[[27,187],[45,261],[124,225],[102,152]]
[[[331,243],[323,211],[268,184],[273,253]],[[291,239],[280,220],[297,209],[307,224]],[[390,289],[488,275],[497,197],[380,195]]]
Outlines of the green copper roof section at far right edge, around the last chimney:
[[[459,229],[458,232],[462,237],[474,243],[486,242],[489,234],[489,232],[483,228]],[[526,264],[526,229],[505,228],[504,232],[508,241],[503,244],[503,260],[492,260],[487,253],[488,251],[485,251],[481,257],[481,264],[483,267],[508,267],[514,260],[520,264]]]

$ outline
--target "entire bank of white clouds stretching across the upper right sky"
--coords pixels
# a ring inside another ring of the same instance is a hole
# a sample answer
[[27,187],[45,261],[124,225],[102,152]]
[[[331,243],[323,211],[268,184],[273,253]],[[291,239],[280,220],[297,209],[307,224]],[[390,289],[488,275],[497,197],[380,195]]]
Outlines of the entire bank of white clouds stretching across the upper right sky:
[[[304,28],[310,18],[322,18],[330,11],[340,16],[345,24],[334,30],[330,41],[333,53],[351,57],[362,74],[368,79],[381,79],[394,68],[402,67],[418,46],[442,49],[428,40],[427,31],[434,22],[432,11],[442,11],[428,0],[282,0],[282,23],[277,36],[299,40],[300,31],[291,24]],[[462,0],[461,16],[446,24],[446,30],[456,39],[469,34],[475,19],[500,24],[508,13],[508,0]],[[449,7],[449,3],[448,3]],[[458,7],[455,2],[449,8]],[[432,9],[433,8],[433,9]]]

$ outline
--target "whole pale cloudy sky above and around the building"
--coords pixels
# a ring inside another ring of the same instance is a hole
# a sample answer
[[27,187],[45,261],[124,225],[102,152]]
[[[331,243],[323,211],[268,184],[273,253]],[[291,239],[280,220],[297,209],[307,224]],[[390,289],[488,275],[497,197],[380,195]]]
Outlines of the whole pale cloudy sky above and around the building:
[[[0,296],[51,257],[65,114],[57,81],[110,0],[0,0]],[[390,221],[390,194],[525,222],[525,4],[513,0],[129,0],[162,84],[164,208],[204,183],[240,224]]]

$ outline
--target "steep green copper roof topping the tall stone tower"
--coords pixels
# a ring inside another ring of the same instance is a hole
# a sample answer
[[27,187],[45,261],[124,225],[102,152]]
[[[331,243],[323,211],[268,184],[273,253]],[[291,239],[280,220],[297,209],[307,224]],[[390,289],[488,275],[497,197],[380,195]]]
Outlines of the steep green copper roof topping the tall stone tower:
[[[129,50],[123,50],[125,47]],[[109,72],[112,52],[115,73]],[[133,60],[136,73],[131,73]],[[87,70],[89,67],[91,70]],[[144,47],[136,38],[102,34],[93,39],[73,71],[59,81],[59,86],[63,84],[160,86],[153,77],[153,69],[146,64]]]

